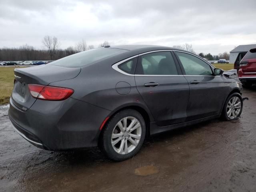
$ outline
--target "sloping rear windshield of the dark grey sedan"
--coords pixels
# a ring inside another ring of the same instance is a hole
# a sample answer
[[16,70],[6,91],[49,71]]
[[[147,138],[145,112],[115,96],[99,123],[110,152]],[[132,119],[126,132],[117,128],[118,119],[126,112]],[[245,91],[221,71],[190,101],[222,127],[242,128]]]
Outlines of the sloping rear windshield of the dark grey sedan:
[[84,67],[98,60],[108,58],[110,56],[114,56],[126,51],[127,50],[115,48],[96,48],[61,58],[47,65],[69,68]]

